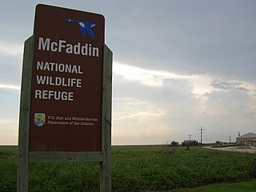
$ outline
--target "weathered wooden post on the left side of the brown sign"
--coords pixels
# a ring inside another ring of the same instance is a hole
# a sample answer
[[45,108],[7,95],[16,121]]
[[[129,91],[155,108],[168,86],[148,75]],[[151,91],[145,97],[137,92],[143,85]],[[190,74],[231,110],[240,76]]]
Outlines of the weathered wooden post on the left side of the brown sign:
[[30,122],[30,90],[31,74],[34,52],[34,36],[28,38],[24,46],[22,64],[22,89],[21,104],[19,112],[18,133],[18,170],[17,191],[28,190],[28,166],[29,166],[29,122]]

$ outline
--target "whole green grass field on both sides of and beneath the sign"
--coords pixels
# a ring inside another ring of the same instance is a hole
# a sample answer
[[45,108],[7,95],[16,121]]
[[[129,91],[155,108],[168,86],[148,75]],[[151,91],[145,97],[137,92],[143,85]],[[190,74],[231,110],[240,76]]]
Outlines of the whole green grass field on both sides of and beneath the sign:
[[[112,191],[168,191],[253,178],[255,154],[190,149],[113,146]],[[16,191],[16,169],[17,147],[0,146],[1,192]],[[99,191],[99,171],[98,162],[30,162],[29,191]]]

